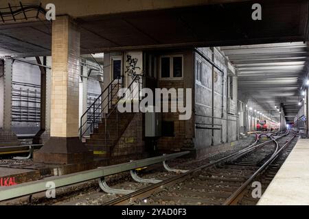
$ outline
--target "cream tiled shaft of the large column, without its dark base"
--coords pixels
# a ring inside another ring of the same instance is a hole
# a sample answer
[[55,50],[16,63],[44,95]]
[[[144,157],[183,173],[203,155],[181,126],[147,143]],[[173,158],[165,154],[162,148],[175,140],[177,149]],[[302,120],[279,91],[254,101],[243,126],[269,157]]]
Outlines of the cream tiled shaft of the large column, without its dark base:
[[52,30],[51,136],[78,136],[80,32],[68,16],[59,16]]

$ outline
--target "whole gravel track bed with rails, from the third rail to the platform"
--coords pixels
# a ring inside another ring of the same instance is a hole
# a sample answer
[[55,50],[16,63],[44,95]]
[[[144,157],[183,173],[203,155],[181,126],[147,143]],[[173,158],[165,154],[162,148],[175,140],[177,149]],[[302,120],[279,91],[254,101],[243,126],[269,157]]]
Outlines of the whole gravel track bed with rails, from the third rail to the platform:
[[[281,136],[277,136],[281,134]],[[260,133],[255,142],[238,149],[220,153],[210,159],[192,162],[173,162],[177,168],[187,167],[183,174],[162,172],[161,166],[152,166],[139,172],[141,177],[161,179],[161,183],[136,183],[126,173],[115,175],[108,182],[114,188],[135,190],[128,195],[106,194],[98,190],[96,181],[80,183],[57,190],[57,198],[32,197],[31,203],[21,205],[254,205],[258,200],[251,196],[246,182],[260,181],[262,190],[296,143],[295,135],[288,133]],[[263,136],[267,137],[266,142]],[[271,138],[271,139],[269,139]],[[291,144],[287,144],[291,143]],[[287,146],[284,150],[283,146]],[[281,151],[280,151],[281,150]],[[273,157],[275,156],[275,157]],[[273,159],[270,161],[271,157]],[[269,163],[262,168],[264,164]],[[262,168],[262,169],[261,169]],[[241,190],[240,190],[241,188]],[[39,195],[40,196],[40,195]],[[231,200],[230,203],[227,201]],[[11,203],[12,204],[12,203]],[[14,203],[13,203],[14,204]]]

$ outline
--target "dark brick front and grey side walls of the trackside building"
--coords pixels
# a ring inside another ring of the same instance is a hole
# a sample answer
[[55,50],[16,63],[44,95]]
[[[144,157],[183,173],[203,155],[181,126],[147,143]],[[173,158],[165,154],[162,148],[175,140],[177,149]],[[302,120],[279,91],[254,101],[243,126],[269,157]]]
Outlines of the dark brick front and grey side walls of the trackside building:
[[[201,51],[209,59],[212,53],[209,48],[200,48]],[[162,151],[174,151],[179,149],[196,149],[203,151],[211,147],[212,133],[211,129],[196,129],[195,123],[205,124],[203,127],[211,127],[211,90],[212,90],[212,66],[192,49],[187,50],[162,50],[144,52],[157,57],[157,75],[155,75],[156,88],[192,88],[192,118],[190,120],[179,120],[179,113],[163,113],[162,120],[174,123],[174,136],[161,137],[158,141],[158,149]],[[111,56],[123,53],[105,53],[104,54],[104,87],[110,81],[110,60]],[[162,55],[182,55],[183,56],[183,79],[161,79],[160,73],[160,57]],[[202,63],[201,82],[196,81],[196,60]],[[234,110],[229,110],[228,103],[229,86],[227,79],[229,73],[227,67],[227,59],[215,49],[214,62],[224,74],[215,69],[214,73],[214,130],[213,145],[219,145],[225,142],[233,142],[237,140],[238,129],[238,95],[237,95],[237,75],[232,75],[233,88],[231,88],[231,96],[233,96]],[[145,69],[147,71],[147,69]],[[234,73],[236,74],[236,73]],[[147,73],[146,73],[147,75]],[[126,75],[125,75],[126,77]],[[223,85],[222,85],[223,83]],[[223,98],[222,98],[223,97]],[[195,114],[195,113],[196,114]],[[198,116],[199,115],[199,116]],[[210,125],[209,125],[210,124]],[[165,127],[161,127],[164,132]]]

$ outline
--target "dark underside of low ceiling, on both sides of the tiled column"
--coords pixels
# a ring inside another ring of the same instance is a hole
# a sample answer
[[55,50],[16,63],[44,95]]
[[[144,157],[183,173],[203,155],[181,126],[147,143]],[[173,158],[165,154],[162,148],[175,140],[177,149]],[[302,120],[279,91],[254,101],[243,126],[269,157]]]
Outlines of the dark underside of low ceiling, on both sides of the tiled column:
[[[308,0],[258,2],[262,5],[262,21],[251,18],[251,7],[257,1],[211,5],[201,1],[202,5],[192,7],[73,18],[80,25],[82,53],[295,42],[308,38]],[[51,23],[42,17],[39,22],[21,22],[0,23],[0,55],[50,55]]]

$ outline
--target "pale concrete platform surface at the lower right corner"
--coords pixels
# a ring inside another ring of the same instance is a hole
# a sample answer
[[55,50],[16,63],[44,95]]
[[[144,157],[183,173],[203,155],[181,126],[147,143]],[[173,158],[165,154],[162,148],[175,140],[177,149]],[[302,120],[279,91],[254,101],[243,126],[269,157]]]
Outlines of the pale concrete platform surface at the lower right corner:
[[258,205],[309,205],[309,139],[301,139]]

